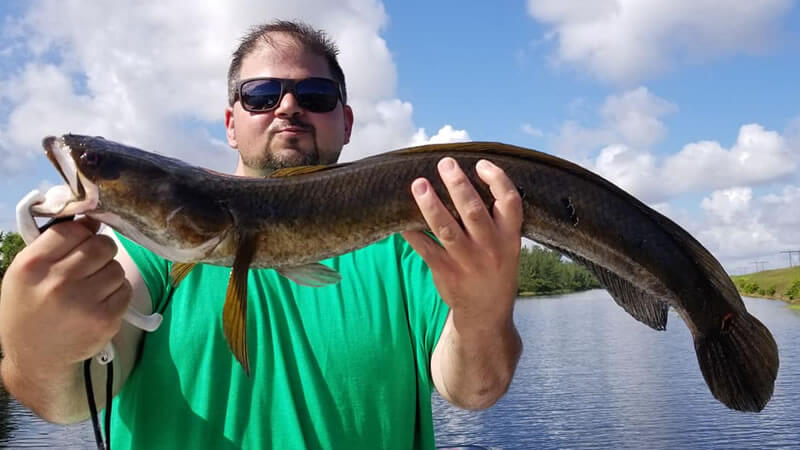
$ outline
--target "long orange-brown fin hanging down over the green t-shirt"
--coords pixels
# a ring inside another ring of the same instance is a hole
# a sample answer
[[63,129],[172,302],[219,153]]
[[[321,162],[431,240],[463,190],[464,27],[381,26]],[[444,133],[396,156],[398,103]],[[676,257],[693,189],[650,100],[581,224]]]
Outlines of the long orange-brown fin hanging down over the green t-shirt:
[[247,353],[247,274],[255,253],[255,239],[252,234],[239,237],[239,249],[233,260],[225,306],[222,309],[222,331],[228,341],[233,356],[250,376],[250,360]]

